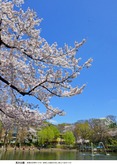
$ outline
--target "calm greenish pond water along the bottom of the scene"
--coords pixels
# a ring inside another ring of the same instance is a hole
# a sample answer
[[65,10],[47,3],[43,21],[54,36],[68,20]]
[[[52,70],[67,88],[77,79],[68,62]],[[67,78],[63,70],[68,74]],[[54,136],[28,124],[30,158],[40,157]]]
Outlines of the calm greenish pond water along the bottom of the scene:
[[0,151],[0,160],[117,160],[117,153],[92,156],[78,151]]

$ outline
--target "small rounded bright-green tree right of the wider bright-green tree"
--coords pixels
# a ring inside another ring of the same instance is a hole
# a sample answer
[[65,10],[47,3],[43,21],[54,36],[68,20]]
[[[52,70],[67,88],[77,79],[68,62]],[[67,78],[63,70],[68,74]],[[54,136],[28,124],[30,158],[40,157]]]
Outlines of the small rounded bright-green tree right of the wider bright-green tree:
[[74,137],[74,134],[73,132],[71,131],[67,131],[63,134],[63,138],[65,140],[65,143],[67,145],[73,145],[75,143],[75,137]]

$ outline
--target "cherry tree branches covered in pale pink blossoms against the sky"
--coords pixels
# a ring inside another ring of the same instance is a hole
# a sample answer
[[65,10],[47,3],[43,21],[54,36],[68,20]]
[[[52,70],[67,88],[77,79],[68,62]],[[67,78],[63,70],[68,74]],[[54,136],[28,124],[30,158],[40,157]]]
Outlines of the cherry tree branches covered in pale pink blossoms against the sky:
[[[71,82],[92,59],[79,65],[78,49],[85,43],[65,44],[58,48],[40,36],[42,19],[30,8],[23,11],[23,0],[2,0],[0,10],[0,117],[9,125],[39,125],[64,112],[54,108],[51,98],[71,97],[82,93],[85,84],[73,87]],[[17,8],[16,8],[17,6]],[[46,112],[24,97],[42,103]]]

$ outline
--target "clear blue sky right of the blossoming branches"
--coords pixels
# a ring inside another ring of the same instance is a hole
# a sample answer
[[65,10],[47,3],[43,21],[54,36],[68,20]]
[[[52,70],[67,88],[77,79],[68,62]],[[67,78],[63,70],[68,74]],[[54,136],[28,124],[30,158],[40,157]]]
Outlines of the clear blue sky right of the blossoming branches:
[[52,99],[53,106],[66,112],[53,120],[73,123],[117,116],[117,0],[25,0],[23,8],[27,7],[43,18],[41,36],[50,44],[73,46],[85,38],[77,57],[82,62],[94,60],[74,81],[74,85],[87,84],[81,95]]

